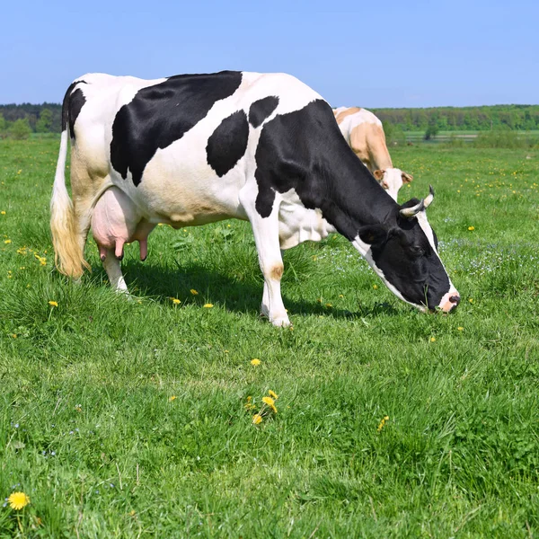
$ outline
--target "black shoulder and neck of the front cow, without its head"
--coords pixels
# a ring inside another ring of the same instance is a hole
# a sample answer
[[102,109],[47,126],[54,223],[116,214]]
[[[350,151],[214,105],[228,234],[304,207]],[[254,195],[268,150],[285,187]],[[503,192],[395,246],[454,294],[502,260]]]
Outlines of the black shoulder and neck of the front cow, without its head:
[[[350,215],[364,215],[359,225],[372,224],[384,205],[392,205],[391,197],[350,150],[331,107],[322,100],[264,124],[255,159],[256,210],[262,217],[270,216],[276,191],[294,188],[305,208],[322,209],[328,222],[352,240],[358,223]],[[373,203],[366,204],[369,199]],[[373,205],[379,208],[375,211]]]

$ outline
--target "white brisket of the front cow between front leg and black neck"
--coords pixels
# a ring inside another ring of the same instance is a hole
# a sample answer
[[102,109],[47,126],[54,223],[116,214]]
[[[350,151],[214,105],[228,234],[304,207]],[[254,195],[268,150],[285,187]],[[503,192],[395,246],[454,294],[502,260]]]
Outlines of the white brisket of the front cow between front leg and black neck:
[[281,249],[307,241],[319,242],[333,232],[335,228],[323,218],[322,211],[305,208],[295,189],[280,195],[278,238]]

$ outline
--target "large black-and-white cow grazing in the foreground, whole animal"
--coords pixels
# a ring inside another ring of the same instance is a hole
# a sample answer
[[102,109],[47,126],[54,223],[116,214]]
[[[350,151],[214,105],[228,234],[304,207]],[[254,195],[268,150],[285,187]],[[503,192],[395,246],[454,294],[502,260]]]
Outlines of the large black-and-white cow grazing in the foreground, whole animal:
[[261,311],[277,326],[289,324],[281,249],[339,232],[396,296],[449,312],[460,297],[425,214],[433,195],[396,204],[347,146],[329,104],[293,76],[90,74],[64,98],[51,230],[58,269],[79,278],[93,223],[110,282],[127,291],[122,245],[139,240],[144,258],[157,223],[249,220]]

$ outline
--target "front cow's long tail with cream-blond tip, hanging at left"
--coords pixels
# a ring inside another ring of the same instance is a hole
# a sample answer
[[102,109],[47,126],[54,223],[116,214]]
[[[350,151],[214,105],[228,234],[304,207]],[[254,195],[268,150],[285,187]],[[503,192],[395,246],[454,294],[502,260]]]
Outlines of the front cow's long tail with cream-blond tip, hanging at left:
[[84,246],[79,238],[75,209],[66,189],[65,175],[69,144],[69,97],[74,86],[75,83],[69,86],[62,103],[62,137],[50,199],[50,231],[57,269],[69,277],[79,278],[83,275],[84,268],[89,268],[89,265],[84,261]]

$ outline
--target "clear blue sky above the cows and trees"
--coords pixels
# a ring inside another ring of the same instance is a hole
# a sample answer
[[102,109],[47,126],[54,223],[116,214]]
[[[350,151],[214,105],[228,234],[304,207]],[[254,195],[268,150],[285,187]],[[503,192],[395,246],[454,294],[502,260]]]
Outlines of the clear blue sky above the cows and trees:
[[539,3],[5,2],[0,103],[79,75],[296,75],[333,106],[539,103]]

